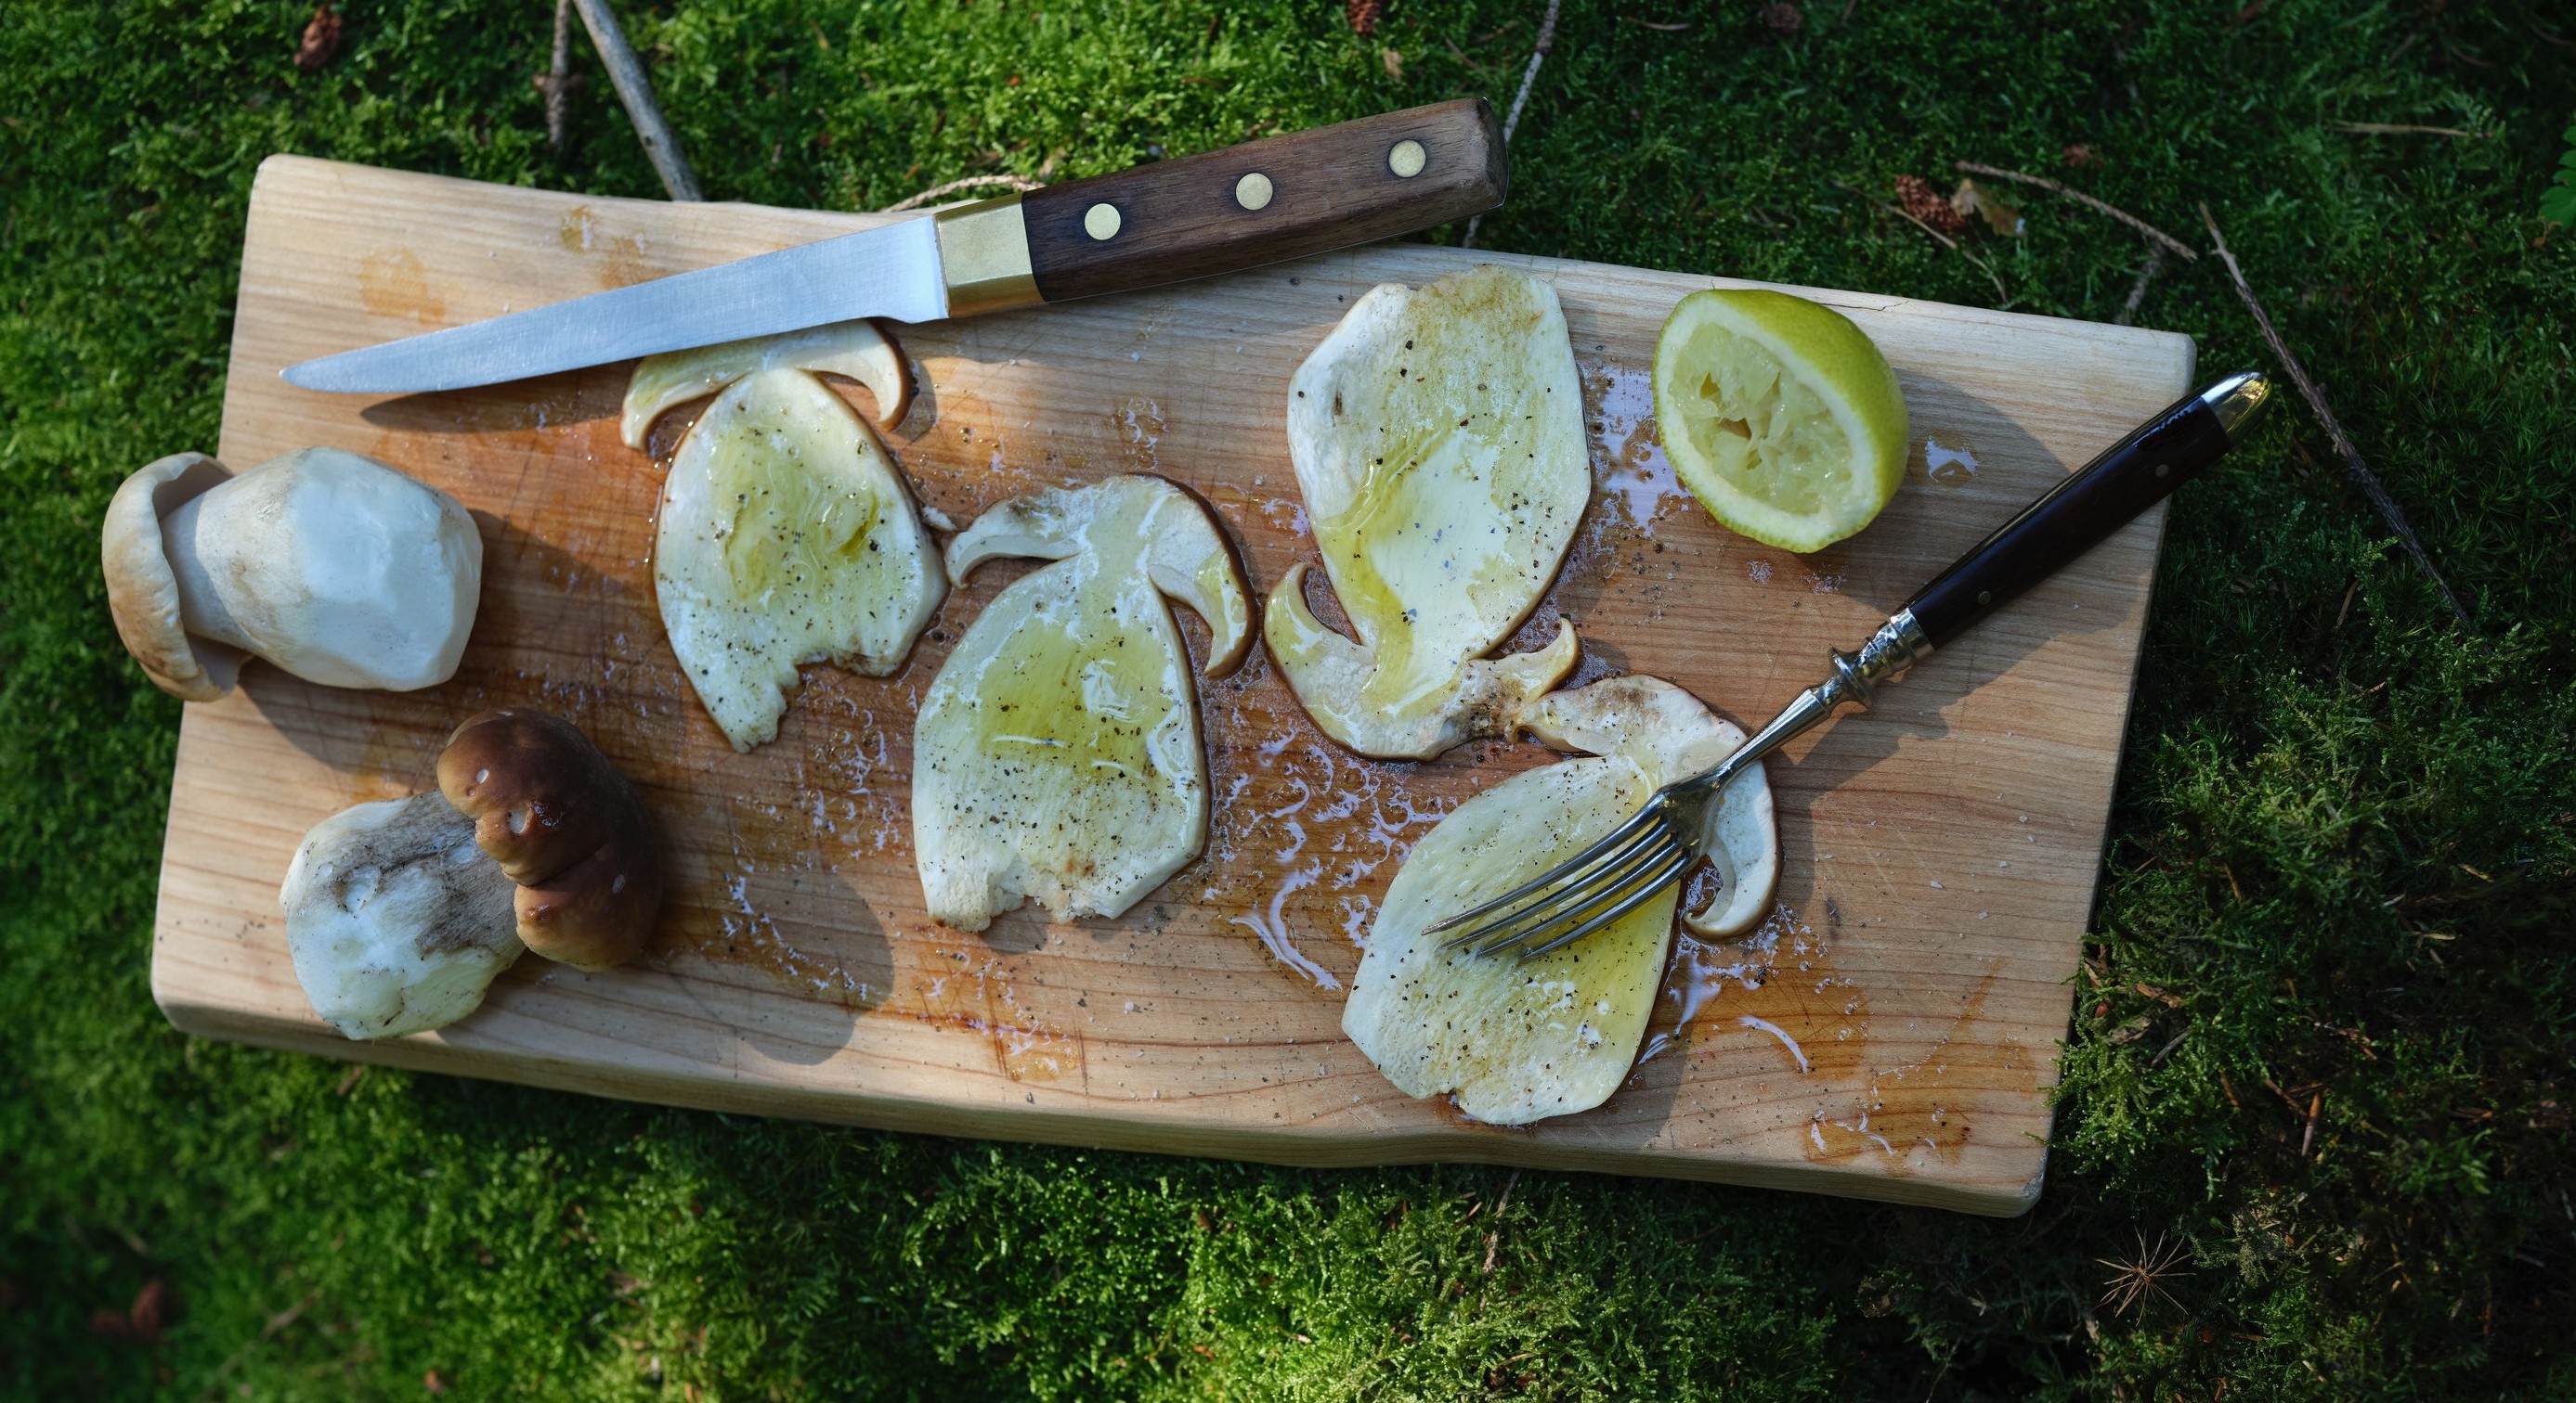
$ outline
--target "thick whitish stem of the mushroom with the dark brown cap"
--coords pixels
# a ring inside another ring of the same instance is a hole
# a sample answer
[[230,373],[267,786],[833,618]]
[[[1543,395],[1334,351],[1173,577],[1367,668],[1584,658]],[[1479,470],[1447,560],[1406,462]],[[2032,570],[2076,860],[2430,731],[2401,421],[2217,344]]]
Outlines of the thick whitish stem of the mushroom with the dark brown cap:
[[518,960],[515,886],[438,793],[322,819],[286,865],[278,904],[296,983],[348,1037],[446,1027]]

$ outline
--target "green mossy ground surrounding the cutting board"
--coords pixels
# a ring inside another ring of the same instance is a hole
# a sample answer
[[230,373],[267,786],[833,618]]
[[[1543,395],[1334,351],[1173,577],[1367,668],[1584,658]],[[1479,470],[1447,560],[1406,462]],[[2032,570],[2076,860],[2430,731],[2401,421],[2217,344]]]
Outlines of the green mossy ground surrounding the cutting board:
[[[2576,1395],[2576,113],[2548,0],[1566,5],[1484,242],[2110,319],[2048,196],[2226,221],[2473,615],[2298,407],[2182,494],[2035,1213],[1306,1174],[729,1120],[191,1043],[144,989],[178,705],[95,523],[211,445],[252,167],[657,193],[549,5],[0,0],[0,1393],[13,1398]],[[716,198],[881,206],[1510,100],[1538,0],[621,5]],[[1687,26],[1687,28],[1667,28]],[[2411,124],[2427,131],[2357,131]],[[2071,167],[2066,147],[2089,147]],[[1440,237],[1455,237],[1450,229]],[[1973,255],[1976,260],[1971,260]],[[2267,363],[2210,260],[2138,319]],[[2146,1300],[2112,1267],[2179,1251]],[[1486,1269],[1492,1264],[1492,1269]],[[149,1279],[178,1315],[116,1339]]]

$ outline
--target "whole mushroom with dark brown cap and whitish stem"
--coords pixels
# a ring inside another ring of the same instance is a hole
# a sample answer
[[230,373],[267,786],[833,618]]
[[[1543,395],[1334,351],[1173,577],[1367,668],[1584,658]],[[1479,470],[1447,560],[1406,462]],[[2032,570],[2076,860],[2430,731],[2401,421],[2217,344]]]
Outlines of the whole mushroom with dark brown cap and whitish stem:
[[644,806],[572,723],[487,711],[448,736],[438,780],[322,819],[286,868],[296,981],[348,1037],[471,1014],[520,950],[605,971],[662,904]]

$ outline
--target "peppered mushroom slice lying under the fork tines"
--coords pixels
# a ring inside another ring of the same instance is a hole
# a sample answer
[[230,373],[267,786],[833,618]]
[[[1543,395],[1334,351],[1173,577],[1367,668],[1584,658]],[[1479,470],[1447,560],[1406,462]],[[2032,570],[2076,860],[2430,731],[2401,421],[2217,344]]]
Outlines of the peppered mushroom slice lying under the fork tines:
[[[1677,886],[1533,960],[1440,950],[1425,927],[1546,873],[1625,821],[1667,780],[1734,754],[1744,731],[1659,677],[1613,677],[1553,692],[1522,716],[1558,749],[1589,752],[1461,803],[1414,844],[1368,934],[1342,1032],[1409,1097],[1453,1092],[1458,1110],[1528,1125],[1592,1110],[1618,1092],[1654,1012]],[[1710,813],[1723,880],[1692,929],[1734,934],[1759,919],[1780,873],[1770,780],[1749,767]]]

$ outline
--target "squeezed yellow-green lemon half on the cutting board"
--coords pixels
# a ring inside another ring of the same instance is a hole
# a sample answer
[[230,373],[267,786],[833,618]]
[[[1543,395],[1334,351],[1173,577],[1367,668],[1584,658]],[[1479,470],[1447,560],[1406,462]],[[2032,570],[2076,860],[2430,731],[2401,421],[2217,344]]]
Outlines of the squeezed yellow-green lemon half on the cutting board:
[[1654,420],[1708,515],[1783,551],[1870,525],[1906,476],[1896,371],[1850,317],[1803,296],[1685,296],[1654,342]]

